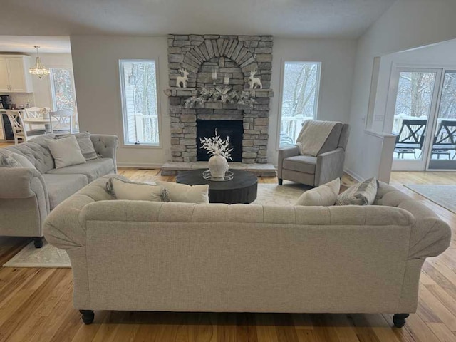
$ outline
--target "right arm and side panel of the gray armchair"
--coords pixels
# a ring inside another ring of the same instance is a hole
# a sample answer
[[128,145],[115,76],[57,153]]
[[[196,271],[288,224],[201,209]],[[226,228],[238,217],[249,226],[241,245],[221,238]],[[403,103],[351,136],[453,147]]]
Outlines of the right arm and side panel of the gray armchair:
[[318,155],[316,157],[315,186],[318,187],[342,177],[344,161],[345,151],[341,147]]

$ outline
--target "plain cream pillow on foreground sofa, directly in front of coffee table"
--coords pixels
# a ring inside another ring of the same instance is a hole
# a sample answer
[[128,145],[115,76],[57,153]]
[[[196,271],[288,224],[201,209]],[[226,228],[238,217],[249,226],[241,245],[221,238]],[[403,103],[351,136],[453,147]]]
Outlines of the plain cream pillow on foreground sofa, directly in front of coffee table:
[[157,181],[170,194],[171,202],[209,203],[209,185],[186,185],[173,182]]

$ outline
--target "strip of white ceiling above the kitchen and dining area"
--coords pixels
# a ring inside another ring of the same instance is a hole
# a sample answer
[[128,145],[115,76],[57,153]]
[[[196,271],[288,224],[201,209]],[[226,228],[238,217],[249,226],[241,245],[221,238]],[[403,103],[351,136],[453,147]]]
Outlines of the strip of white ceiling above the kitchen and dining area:
[[1,52],[36,53],[33,46],[40,46],[40,53],[71,53],[68,36],[0,36]]

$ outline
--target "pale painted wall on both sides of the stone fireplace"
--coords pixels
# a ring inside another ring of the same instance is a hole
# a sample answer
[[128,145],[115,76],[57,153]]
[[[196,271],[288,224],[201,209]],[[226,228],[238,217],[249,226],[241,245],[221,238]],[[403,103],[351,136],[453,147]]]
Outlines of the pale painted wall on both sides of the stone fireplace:
[[[119,165],[152,167],[170,160],[168,100],[163,94],[163,90],[168,86],[167,38],[71,36],[71,51],[81,130],[118,135],[121,140],[118,150]],[[282,61],[321,61],[318,118],[348,122],[355,53],[356,41],[353,40],[274,38],[271,88],[274,89],[275,96],[271,100],[269,162],[274,165],[277,162]],[[161,147],[123,146],[118,71],[120,58],[158,60]]]

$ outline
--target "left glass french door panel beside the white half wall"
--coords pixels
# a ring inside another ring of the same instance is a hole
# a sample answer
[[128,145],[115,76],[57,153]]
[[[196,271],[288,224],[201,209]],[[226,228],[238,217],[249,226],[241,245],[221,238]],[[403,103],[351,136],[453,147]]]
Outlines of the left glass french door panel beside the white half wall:
[[440,68],[396,68],[392,133],[396,135],[393,170],[424,171],[434,140]]

